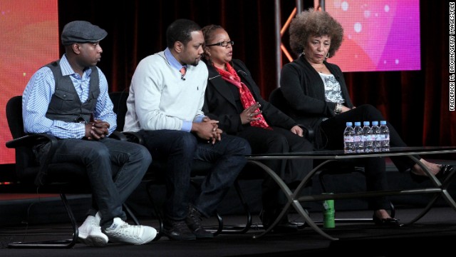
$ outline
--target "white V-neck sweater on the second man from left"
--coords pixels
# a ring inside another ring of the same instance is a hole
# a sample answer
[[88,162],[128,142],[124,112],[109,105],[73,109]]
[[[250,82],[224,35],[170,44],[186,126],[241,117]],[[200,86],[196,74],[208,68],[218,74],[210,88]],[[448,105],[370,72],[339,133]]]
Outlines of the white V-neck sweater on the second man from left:
[[206,86],[207,66],[202,61],[189,65],[183,80],[163,51],[145,57],[133,74],[123,130],[181,130],[182,121],[203,115]]

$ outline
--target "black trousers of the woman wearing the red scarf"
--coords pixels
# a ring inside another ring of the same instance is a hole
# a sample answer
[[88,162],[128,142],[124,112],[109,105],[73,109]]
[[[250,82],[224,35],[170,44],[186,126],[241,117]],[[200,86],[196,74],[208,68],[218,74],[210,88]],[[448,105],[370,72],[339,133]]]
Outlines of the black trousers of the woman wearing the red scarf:
[[[313,145],[306,138],[297,136],[288,129],[273,127],[272,130],[256,126],[245,126],[236,136],[247,139],[252,153],[289,153],[313,151]],[[264,160],[266,166],[277,173],[285,183],[301,181],[312,169],[311,160]],[[284,193],[270,176],[265,176],[262,185],[263,208],[279,208],[286,203]]]

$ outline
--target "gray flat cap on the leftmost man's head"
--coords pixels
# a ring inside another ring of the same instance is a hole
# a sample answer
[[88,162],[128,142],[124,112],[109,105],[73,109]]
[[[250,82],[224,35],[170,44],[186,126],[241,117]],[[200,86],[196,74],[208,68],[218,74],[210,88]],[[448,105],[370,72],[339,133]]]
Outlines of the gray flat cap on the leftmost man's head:
[[104,29],[88,21],[71,21],[63,27],[62,44],[97,42],[108,35]]

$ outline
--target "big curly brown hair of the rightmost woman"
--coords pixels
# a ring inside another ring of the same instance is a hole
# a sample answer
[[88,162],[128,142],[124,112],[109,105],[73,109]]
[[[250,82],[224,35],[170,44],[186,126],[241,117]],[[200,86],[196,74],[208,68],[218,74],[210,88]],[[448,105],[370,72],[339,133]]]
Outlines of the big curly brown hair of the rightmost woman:
[[329,57],[334,56],[343,41],[343,28],[326,11],[308,9],[297,14],[290,24],[290,46],[297,55],[302,54],[310,36],[329,36]]

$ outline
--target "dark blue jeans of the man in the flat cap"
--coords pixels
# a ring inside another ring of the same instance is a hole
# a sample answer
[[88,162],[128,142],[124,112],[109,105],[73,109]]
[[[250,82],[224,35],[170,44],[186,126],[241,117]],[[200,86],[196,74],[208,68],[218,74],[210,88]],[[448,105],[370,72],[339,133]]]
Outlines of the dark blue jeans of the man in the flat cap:
[[142,181],[152,162],[147,148],[137,143],[103,138],[89,141],[76,138],[58,140],[52,163],[73,162],[86,166],[93,197],[88,215],[100,211],[104,229],[113,218],[125,220],[122,204]]

